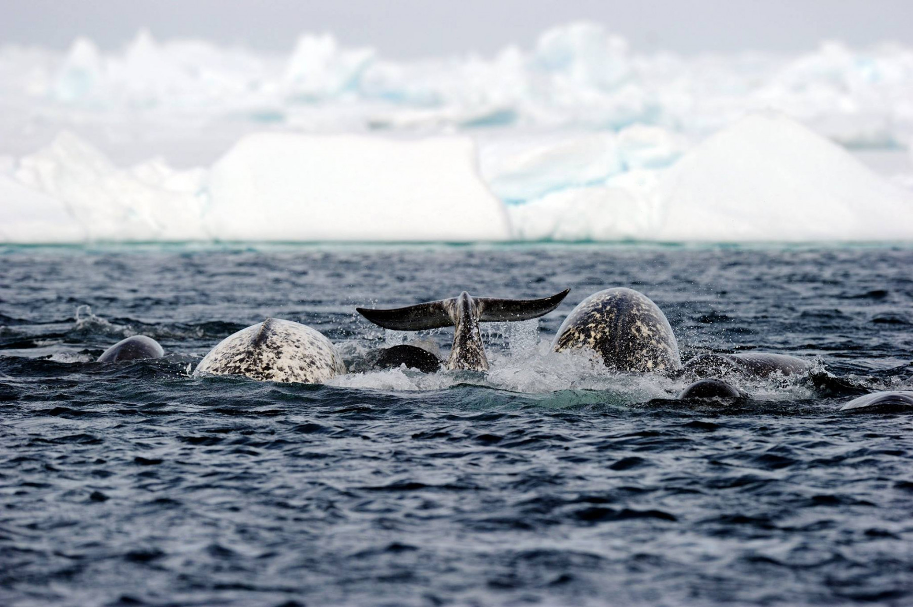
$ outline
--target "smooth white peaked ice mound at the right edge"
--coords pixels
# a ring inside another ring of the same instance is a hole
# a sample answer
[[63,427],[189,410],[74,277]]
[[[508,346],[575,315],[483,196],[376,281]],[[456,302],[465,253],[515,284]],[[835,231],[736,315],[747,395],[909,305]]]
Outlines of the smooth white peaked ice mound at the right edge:
[[662,175],[652,197],[657,240],[913,239],[913,195],[772,113],[700,143]]

